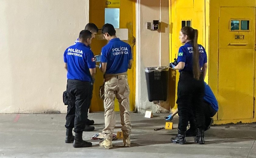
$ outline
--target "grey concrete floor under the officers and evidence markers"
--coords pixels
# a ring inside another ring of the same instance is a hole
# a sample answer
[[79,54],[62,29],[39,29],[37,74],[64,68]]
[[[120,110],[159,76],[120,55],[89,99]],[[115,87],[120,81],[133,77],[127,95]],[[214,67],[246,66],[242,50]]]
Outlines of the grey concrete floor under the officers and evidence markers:
[[[194,143],[187,137],[187,144],[170,143],[177,133],[178,116],[173,119],[173,130],[153,129],[165,126],[164,116],[154,118],[131,113],[132,146],[124,148],[122,140],[113,141],[113,149],[98,146],[98,140],[90,140],[104,127],[104,113],[90,113],[95,121],[95,131],[84,132],[83,139],[91,141],[93,147],[73,148],[64,143],[65,114],[0,114],[0,157],[107,157],[107,158],[255,158],[256,124],[211,127],[205,132],[205,145]],[[120,116],[116,113],[115,132],[120,131]]]

